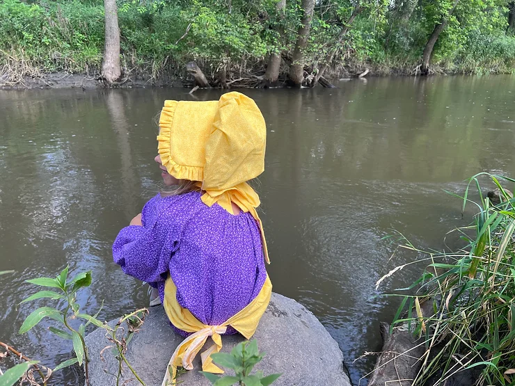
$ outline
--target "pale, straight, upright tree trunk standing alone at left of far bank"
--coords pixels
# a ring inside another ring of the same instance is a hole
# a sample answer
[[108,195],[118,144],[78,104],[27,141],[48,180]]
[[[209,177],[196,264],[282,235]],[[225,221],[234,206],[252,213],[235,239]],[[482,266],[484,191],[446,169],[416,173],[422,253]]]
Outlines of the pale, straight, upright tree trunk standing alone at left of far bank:
[[106,35],[102,77],[108,83],[113,83],[122,76],[120,68],[120,28],[118,27],[116,0],[104,0],[104,14]]

